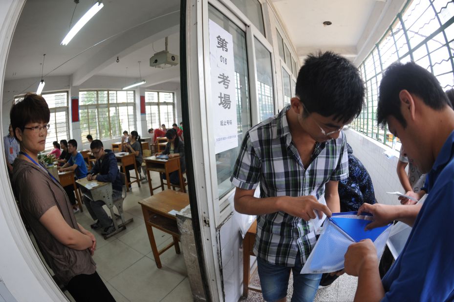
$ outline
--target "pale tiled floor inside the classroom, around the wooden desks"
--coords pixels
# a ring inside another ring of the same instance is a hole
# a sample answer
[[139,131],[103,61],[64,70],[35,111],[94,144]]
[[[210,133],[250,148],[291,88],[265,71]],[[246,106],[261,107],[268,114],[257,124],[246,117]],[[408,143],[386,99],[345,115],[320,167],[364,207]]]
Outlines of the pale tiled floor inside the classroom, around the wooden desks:
[[[151,179],[153,186],[157,186],[158,174],[151,174]],[[134,183],[123,202],[126,219],[132,217],[134,221],[127,225],[125,231],[107,240],[101,236],[101,230],[92,231],[97,238],[93,256],[97,272],[117,302],[192,301],[182,254],[177,255],[171,248],[160,256],[162,268],[156,267],[142,209],[138,204],[139,200],[149,196],[148,182],[142,183],[140,188]],[[86,209],[77,213],[76,219],[84,228],[91,230],[93,220]],[[172,241],[169,234],[156,229],[153,233],[158,249]]]

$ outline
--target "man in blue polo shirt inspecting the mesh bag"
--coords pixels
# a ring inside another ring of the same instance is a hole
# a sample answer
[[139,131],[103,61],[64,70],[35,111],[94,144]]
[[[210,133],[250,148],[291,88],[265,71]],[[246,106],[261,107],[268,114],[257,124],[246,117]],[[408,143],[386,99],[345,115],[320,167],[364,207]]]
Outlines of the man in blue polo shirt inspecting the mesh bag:
[[395,63],[380,84],[377,120],[388,124],[422,173],[430,194],[415,205],[364,204],[368,229],[392,220],[412,230],[383,280],[370,240],[352,244],[345,271],[358,276],[355,301],[454,300],[454,111],[436,78],[415,63]]

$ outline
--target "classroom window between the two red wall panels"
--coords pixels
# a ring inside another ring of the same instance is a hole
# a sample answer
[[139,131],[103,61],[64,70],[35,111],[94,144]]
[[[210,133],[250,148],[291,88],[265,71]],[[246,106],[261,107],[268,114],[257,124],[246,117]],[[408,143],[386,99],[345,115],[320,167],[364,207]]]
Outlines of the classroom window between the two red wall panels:
[[136,129],[135,92],[132,90],[86,90],[79,92],[81,142],[86,136],[106,140]]

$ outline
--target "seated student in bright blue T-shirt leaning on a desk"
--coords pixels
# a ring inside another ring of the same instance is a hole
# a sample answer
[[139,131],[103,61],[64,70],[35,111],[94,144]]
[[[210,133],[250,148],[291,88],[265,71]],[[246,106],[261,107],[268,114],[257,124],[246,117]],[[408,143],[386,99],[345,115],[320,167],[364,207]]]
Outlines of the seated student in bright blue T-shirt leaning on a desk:
[[[70,139],[68,142],[68,153],[71,154],[68,162],[59,167],[59,172],[74,171],[76,179],[81,179],[86,176],[87,169],[85,165],[84,157],[81,153],[77,152],[77,142],[75,139]],[[68,194],[69,201],[72,204],[74,213],[79,212],[79,207],[76,205],[76,197],[74,196],[74,187],[69,185],[65,187],[66,194]]]

